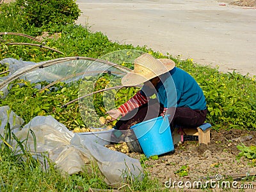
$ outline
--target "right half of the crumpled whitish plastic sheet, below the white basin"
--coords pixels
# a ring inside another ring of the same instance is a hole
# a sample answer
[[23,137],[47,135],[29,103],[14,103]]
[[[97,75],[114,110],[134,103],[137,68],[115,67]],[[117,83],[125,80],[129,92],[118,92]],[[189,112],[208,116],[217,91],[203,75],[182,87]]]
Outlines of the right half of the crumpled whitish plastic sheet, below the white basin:
[[82,140],[78,134],[71,140],[71,145],[79,147],[83,153],[90,153],[97,162],[100,172],[106,178],[107,184],[118,186],[130,177],[142,179],[143,169],[138,159],[133,159],[121,152],[109,150],[92,141]]

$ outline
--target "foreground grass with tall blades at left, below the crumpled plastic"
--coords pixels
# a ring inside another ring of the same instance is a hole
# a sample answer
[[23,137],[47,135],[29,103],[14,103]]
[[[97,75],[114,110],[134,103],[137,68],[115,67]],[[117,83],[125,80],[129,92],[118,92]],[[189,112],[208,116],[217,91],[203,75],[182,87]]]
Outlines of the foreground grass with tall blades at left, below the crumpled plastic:
[[[4,132],[10,131],[10,124],[4,128]],[[83,172],[66,175],[56,168],[47,154],[40,154],[40,158],[32,156],[24,143],[19,141],[15,134],[5,134],[1,138],[0,149],[0,191],[90,191],[90,189],[113,189],[104,181],[104,177],[98,166],[85,164]],[[14,138],[20,150],[10,146],[10,139]],[[35,143],[36,144],[36,143]],[[45,163],[47,162],[47,163]],[[125,170],[124,175],[127,175]],[[115,186],[116,187],[116,186]],[[149,179],[148,175],[141,181],[138,178],[128,177],[124,184],[118,186],[122,191],[161,191],[161,184],[156,179]]]

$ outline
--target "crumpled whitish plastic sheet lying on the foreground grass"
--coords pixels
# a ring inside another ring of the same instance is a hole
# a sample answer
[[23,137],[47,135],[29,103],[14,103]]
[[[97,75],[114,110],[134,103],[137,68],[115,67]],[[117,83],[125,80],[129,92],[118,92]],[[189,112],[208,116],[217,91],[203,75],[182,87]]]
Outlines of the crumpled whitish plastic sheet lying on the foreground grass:
[[[0,111],[6,109],[0,108]],[[4,117],[1,113],[1,118]],[[4,132],[4,124],[1,124]],[[68,131],[65,125],[52,116],[36,116],[20,131],[15,132],[20,140],[26,140],[26,149],[33,154],[43,168],[47,168],[44,154],[56,163],[56,168],[63,173],[83,172],[85,165],[96,163],[107,184],[120,186],[127,177],[143,177],[143,168],[138,159],[133,159],[121,152],[109,150],[90,140],[83,140],[79,134]],[[16,140],[11,141],[17,153],[21,152]],[[88,170],[90,172],[90,170]]]

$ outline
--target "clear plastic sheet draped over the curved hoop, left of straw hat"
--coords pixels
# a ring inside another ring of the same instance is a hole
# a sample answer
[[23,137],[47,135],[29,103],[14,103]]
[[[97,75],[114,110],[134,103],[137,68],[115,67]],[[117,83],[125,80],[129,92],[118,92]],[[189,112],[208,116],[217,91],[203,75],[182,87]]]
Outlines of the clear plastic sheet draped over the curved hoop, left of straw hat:
[[[124,68],[120,70],[117,67],[111,67],[110,63],[105,63],[102,60],[92,60],[93,58],[60,58],[58,60],[42,61],[40,63],[33,63],[30,61],[15,60],[13,58],[6,58],[0,61],[2,65],[8,65],[10,73],[8,76],[0,78],[0,83],[5,79],[12,79],[12,77],[20,74],[20,79],[26,79],[31,83],[40,81],[52,82],[63,77],[76,75],[81,72],[80,76],[71,77],[67,80],[76,81],[85,76],[97,76],[109,70],[115,74],[127,72]],[[84,74],[84,73],[87,74]]]

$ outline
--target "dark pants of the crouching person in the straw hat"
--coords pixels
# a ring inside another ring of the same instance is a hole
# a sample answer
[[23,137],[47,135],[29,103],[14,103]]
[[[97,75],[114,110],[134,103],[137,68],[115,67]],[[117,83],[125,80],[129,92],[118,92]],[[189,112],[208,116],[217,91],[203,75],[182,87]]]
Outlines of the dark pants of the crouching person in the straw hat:
[[[138,109],[134,109],[124,117],[120,118],[120,120],[116,122],[115,129],[130,129],[132,125],[160,116],[161,113],[163,113],[163,109],[163,105],[159,104],[156,99],[151,99],[147,104],[140,106]],[[198,127],[199,125],[204,124],[207,109],[193,110],[190,108],[169,108],[168,113],[170,113],[170,127],[173,131],[175,125]]]

